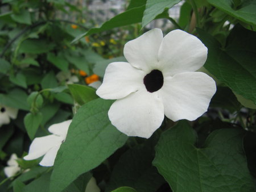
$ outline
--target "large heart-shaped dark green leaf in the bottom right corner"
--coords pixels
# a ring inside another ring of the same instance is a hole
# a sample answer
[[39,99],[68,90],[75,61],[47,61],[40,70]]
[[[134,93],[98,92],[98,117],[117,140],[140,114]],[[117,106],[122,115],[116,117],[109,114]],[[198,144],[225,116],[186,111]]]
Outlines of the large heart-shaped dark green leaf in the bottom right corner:
[[[210,133],[196,148],[196,133],[185,121],[163,132],[153,164],[173,191],[255,191],[242,148],[242,130]],[[189,181],[189,182],[188,182]]]

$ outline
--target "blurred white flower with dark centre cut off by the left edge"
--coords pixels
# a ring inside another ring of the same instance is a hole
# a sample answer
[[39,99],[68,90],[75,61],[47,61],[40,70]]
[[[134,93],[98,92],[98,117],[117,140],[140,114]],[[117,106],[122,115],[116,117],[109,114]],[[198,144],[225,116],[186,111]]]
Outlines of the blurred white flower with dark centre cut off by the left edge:
[[10,118],[16,119],[17,114],[18,109],[0,105],[0,127],[2,127],[3,124],[9,124]]

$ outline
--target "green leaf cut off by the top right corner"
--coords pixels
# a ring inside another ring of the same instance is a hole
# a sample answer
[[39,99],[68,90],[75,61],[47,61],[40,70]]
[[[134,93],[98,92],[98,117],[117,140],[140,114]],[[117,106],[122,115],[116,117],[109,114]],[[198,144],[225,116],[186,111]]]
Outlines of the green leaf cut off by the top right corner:
[[[234,1],[215,1],[207,0],[210,4],[218,9],[226,12],[227,14],[242,20],[245,23],[256,24],[256,1],[255,0],[245,0],[242,1],[241,5],[234,5]],[[235,3],[236,4],[236,3]]]

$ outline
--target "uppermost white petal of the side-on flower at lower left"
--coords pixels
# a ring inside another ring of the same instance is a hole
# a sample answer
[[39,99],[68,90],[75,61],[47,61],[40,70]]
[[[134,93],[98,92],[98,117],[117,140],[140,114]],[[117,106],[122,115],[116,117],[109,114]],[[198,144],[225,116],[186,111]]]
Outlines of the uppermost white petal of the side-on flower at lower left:
[[55,123],[49,126],[48,131],[53,133],[54,135],[59,135],[64,139],[67,137],[68,128],[72,122],[72,119],[65,120],[61,123]]

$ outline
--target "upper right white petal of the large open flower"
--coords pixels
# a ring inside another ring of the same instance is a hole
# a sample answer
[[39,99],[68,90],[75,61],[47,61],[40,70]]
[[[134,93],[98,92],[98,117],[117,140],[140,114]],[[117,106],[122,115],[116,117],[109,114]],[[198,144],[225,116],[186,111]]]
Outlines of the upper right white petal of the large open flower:
[[158,58],[164,76],[195,72],[207,60],[207,47],[197,37],[174,30],[164,36]]

